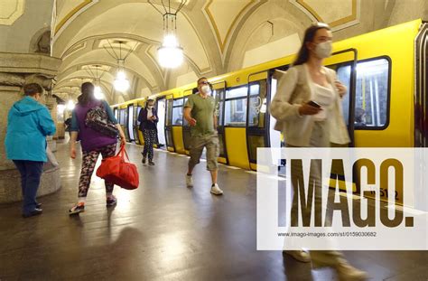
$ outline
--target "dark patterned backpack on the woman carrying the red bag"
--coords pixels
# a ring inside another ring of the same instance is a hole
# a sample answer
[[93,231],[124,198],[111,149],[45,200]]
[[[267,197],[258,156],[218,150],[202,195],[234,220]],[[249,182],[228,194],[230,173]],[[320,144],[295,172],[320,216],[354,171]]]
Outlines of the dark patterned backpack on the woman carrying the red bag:
[[116,137],[119,130],[107,117],[102,105],[90,108],[85,117],[85,125],[105,136]]

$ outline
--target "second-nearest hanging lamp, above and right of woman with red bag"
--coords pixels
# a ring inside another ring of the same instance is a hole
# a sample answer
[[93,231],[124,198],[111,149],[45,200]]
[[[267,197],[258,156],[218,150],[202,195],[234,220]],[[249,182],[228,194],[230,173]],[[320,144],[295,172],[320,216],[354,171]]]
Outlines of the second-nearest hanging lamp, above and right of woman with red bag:
[[[125,72],[125,61],[126,58],[131,54],[131,52],[134,52],[136,46],[138,45],[138,42],[135,42],[135,45],[132,49],[129,49],[124,57],[122,57],[122,44],[125,43],[123,41],[118,41],[119,44],[119,53],[116,54],[115,49],[111,42],[107,40],[108,45],[104,45],[104,49],[108,52],[110,56],[112,56],[117,61],[117,72],[116,72],[116,79],[113,82],[113,85],[115,86],[115,89],[119,92],[124,92],[130,88],[129,80],[126,79],[126,72]],[[110,51],[111,50],[111,51]]]

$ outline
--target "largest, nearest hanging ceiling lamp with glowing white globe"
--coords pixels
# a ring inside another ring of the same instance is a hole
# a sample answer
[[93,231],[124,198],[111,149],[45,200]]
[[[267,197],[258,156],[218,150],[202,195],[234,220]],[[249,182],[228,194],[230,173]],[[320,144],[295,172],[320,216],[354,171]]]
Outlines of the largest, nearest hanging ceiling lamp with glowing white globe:
[[159,10],[150,0],[147,1],[154,9],[163,16],[163,43],[157,49],[158,61],[163,68],[174,69],[181,65],[183,61],[182,48],[177,39],[177,14],[181,8],[187,3],[187,0],[181,0],[180,5],[172,13],[171,1],[168,0],[168,7],[163,5],[163,10]]

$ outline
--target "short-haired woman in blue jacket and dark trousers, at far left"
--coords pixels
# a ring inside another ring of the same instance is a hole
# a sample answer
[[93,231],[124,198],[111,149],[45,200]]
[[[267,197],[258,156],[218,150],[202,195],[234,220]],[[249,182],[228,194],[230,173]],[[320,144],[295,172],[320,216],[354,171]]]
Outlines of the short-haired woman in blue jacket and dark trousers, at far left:
[[13,160],[21,173],[23,217],[42,213],[36,195],[47,162],[46,136],[55,134],[55,124],[48,108],[39,100],[43,89],[39,84],[23,86],[25,97],[14,103],[7,116],[5,148],[7,159]]

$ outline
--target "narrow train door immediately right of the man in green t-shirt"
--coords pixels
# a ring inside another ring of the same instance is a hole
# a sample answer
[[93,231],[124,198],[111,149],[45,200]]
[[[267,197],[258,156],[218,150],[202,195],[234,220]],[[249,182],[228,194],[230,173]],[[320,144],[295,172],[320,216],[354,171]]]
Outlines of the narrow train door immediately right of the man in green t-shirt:
[[228,150],[224,126],[226,81],[212,84],[212,97],[216,100],[217,131],[219,133],[219,163],[228,164]]

